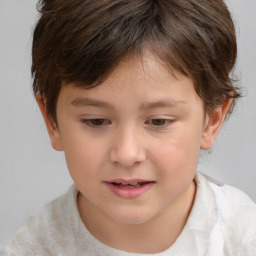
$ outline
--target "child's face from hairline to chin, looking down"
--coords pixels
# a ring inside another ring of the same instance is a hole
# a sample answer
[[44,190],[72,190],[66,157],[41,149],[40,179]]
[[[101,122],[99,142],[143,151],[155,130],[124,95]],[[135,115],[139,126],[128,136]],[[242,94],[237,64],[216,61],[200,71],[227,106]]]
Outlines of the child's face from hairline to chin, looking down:
[[[186,202],[213,125],[189,78],[151,55],[100,86],[63,86],[52,145],[64,150],[81,204],[116,223],[145,223]],[[210,128],[209,128],[210,127]],[[131,185],[127,185],[131,183]]]

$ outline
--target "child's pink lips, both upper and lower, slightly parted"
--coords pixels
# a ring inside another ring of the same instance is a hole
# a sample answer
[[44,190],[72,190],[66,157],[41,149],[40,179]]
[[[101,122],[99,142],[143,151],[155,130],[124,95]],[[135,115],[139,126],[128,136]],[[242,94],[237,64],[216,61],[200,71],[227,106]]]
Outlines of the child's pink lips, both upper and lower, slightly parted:
[[[143,195],[148,191],[154,184],[154,181],[141,180],[141,179],[115,179],[104,182],[107,187],[113,192],[116,196],[123,199],[135,199]],[[128,184],[142,183],[140,186],[125,186]],[[122,184],[122,186],[118,186]]]

